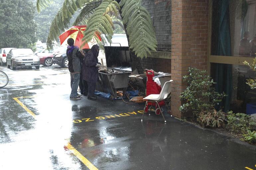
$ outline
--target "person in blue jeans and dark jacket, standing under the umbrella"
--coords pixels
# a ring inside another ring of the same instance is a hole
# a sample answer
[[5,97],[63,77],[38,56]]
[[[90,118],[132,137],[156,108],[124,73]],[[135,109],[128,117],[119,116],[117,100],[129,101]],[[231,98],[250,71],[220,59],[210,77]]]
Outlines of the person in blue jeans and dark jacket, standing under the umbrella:
[[84,57],[82,53],[79,51],[77,46],[74,46],[74,40],[69,38],[67,40],[68,46],[66,50],[66,55],[68,59],[68,70],[70,72],[70,86],[71,86],[71,94],[69,99],[78,100],[82,95],[77,93],[79,81],[80,81],[80,72],[81,72],[81,64],[80,58]]

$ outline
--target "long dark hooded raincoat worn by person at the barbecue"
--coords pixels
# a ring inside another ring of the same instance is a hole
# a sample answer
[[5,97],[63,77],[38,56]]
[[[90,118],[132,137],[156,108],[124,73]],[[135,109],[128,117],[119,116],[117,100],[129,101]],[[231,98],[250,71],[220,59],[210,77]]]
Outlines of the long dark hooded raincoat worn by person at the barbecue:
[[98,70],[96,67],[98,63],[99,46],[93,45],[91,50],[85,55],[85,60],[83,62],[82,75],[83,80],[91,83],[96,83],[98,81]]

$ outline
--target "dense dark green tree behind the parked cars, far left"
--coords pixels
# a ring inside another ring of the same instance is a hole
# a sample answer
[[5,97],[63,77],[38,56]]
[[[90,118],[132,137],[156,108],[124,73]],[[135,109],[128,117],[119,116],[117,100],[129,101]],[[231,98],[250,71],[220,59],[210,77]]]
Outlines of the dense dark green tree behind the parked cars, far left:
[[30,0],[2,0],[0,3],[0,47],[31,47],[35,43],[35,7]]

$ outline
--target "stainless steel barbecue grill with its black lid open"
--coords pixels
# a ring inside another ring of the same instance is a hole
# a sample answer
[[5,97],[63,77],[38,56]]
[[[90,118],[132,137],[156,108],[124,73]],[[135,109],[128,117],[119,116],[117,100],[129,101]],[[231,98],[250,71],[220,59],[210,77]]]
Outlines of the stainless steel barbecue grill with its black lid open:
[[125,94],[132,72],[129,47],[105,46],[105,56],[107,68],[99,69],[96,90],[110,93],[112,98],[117,98],[117,91]]

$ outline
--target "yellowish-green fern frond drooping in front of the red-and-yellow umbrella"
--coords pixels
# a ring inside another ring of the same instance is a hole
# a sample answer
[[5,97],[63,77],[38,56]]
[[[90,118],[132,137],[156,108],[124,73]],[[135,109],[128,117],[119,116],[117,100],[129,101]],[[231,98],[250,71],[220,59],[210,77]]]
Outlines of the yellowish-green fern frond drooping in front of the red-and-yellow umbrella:
[[[103,48],[102,42],[98,38],[101,34],[105,34],[106,39],[111,43],[114,34],[113,22],[108,13],[114,11],[114,13],[117,14],[117,8],[119,8],[119,4],[114,0],[103,0],[101,2],[87,22],[87,28],[84,31],[83,37],[84,43],[87,43],[94,38],[100,47]],[[102,40],[104,40],[103,37]]]

